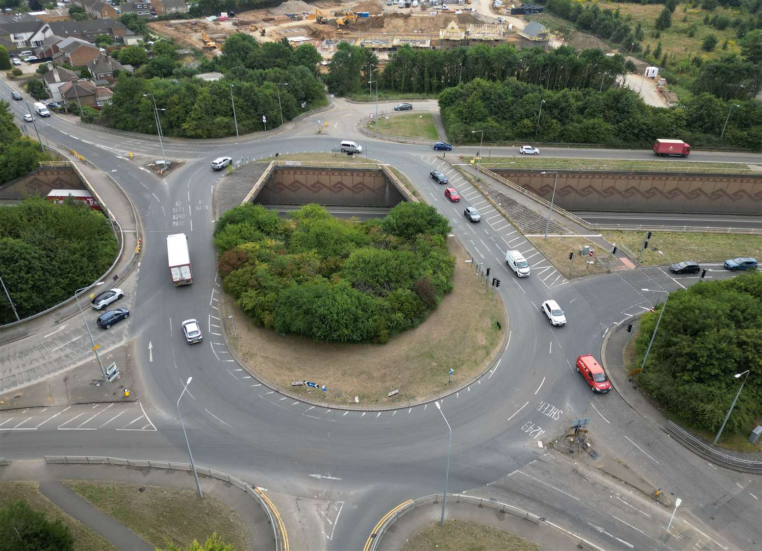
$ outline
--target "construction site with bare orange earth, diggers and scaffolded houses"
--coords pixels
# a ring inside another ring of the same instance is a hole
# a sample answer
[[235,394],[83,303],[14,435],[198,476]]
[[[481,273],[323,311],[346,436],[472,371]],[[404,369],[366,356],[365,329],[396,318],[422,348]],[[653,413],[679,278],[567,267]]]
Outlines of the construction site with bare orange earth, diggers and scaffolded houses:
[[246,33],[259,42],[285,38],[295,46],[311,43],[326,60],[339,43],[349,42],[376,51],[382,66],[389,53],[405,44],[415,48],[478,43],[548,46],[546,32],[525,34],[522,30],[526,21],[505,13],[504,8],[494,8],[486,0],[454,0],[450,5],[441,0],[323,0],[312,4],[288,0],[274,8],[244,11],[233,18],[219,14],[198,20],[152,22],[149,27],[182,46],[203,48],[208,56],[219,55],[230,34]]

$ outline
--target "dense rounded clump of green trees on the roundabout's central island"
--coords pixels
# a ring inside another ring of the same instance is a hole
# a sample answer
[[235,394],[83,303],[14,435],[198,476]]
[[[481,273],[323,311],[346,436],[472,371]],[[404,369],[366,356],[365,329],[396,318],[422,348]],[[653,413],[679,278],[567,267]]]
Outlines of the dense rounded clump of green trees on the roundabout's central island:
[[258,325],[325,342],[386,342],[453,287],[447,219],[400,203],[352,223],[307,205],[282,220],[247,204],[217,223],[223,287]]

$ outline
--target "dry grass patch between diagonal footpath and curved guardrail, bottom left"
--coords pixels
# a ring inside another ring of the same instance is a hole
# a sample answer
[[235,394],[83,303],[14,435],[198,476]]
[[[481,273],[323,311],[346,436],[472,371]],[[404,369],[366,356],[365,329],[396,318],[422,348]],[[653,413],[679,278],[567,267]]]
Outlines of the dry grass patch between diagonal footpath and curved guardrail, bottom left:
[[[200,500],[194,490],[167,486],[98,480],[62,482],[152,546],[163,548],[169,541],[184,549],[194,539],[203,543],[216,532],[235,549],[251,548],[248,530],[239,514],[210,495]],[[140,492],[140,488],[145,490]]]

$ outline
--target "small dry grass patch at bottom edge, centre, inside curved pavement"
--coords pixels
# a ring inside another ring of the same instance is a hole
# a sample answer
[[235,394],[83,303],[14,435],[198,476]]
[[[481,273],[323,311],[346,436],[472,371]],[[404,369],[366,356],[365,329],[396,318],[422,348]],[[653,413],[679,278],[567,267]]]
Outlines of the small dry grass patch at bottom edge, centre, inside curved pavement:
[[540,547],[516,534],[469,521],[432,522],[418,529],[400,551],[539,551]]

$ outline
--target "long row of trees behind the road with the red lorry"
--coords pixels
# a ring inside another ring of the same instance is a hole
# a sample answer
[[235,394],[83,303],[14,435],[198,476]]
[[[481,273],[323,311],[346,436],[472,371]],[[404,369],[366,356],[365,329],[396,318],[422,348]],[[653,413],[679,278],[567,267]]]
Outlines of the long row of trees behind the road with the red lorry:
[[644,104],[628,88],[549,91],[510,78],[477,79],[447,88],[439,97],[442,121],[453,143],[472,142],[472,130],[484,130],[485,142],[539,139],[650,147],[655,138],[674,136],[692,146],[762,149],[762,105],[753,100],[738,104],[721,143],[730,104],[711,94],[665,109]]

